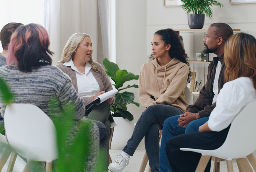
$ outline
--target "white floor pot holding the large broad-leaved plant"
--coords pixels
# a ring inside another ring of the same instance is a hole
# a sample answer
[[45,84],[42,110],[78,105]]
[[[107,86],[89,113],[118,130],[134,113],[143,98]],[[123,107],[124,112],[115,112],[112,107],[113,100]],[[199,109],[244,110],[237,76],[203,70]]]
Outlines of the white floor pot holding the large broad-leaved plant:
[[122,117],[113,117],[118,125],[114,128],[111,149],[123,149],[131,138],[134,130],[134,120],[128,121]]

